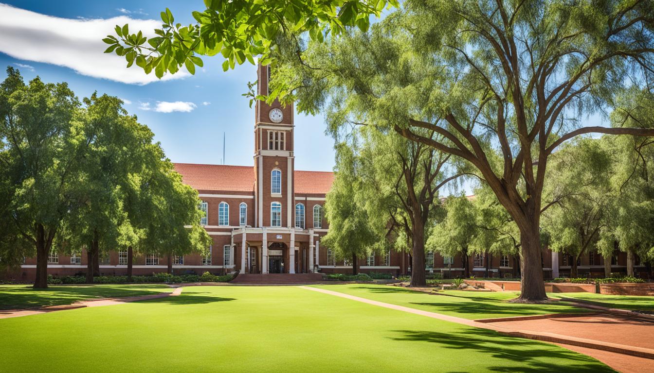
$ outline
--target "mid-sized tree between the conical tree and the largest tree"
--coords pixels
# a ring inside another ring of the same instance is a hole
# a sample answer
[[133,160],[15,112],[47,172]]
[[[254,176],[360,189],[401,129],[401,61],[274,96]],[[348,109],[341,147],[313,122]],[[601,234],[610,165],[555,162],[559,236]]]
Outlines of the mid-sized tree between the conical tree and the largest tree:
[[348,137],[356,158],[354,193],[364,201],[375,231],[386,237],[379,247],[386,250],[388,239],[404,241],[392,246],[411,250],[411,286],[426,285],[424,242],[436,219],[439,189],[462,175],[457,170],[462,165],[456,167],[449,155],[434,148],[373,126],[360,126]]

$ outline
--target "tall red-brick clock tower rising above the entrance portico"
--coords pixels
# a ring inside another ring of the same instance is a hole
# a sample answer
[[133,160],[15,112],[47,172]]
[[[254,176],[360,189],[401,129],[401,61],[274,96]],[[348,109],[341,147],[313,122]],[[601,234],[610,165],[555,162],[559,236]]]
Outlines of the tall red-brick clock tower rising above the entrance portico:
[[[258,65],[257,94],[268,95],[270,67]],[[294,227],[293,105],[257,100],[254,118],[256,227]]]

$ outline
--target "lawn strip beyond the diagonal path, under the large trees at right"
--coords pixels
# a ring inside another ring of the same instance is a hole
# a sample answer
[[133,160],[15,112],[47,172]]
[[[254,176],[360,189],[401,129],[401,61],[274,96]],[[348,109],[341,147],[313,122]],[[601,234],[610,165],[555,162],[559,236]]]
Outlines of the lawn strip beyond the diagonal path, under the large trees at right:
[[570,306],[565,302],[550,304],[509,303],[509,299],[518,296],[517,292],[510,291],[495,293],[446,290],[439,293],[439,295],[432,295],[388,285],[349,284],[315,285],[315,287],[378,300],[379,302],[437,312],[438,314],[463,317],[464,319],[588,312],[588,310]]

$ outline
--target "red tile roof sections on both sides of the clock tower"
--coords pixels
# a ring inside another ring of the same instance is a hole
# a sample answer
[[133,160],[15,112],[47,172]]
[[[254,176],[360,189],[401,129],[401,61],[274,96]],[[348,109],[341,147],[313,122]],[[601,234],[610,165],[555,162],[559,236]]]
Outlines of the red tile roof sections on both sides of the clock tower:
[[[185,184],[196,190],[253,191],[254,167],[173,163]],[[334,172],[298,171],[294,173],[296,194],[327,194]]]

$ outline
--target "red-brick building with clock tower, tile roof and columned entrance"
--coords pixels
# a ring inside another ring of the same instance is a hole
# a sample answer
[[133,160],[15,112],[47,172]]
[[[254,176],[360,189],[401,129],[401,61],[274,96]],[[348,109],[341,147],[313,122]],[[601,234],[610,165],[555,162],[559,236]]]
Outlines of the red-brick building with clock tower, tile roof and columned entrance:
[[[267,94],[269,69],[258,68],[258,89]],[[278,102],[256,102],[254,120],[254,165],[200,165],[175,163],[184,183],[194,187],[202,200],[206,218],[201,220],[213,244],[209,255],[184,255],[170,258],[175,273],[349,273],[351,263],[337,261],[329,248],[320,246],[328,232],[324,216],[325,195],[332,187],[332,172],[301,171],[294,165],[294,110]],[[598,255],[582,260],[579,274],[603,271]],[[133,274],[165,272],[169,258],[157,255],[135,256]],[[476,277],[515,277],[519,274],[516,258],[507,255],[471,255],[466,258],[470,274]],[[543,276],[552,278],[569,273],[564,255],[543,250]],[[100,261],[101,275],[127,272],[128,251],[112,251]],[[614,272],[626,270],[626,255],[615,258]],[[48,274],[65,276],[86,271],[86,253],[68,256],[52,253]],[[360,272],[385,272],[394,275],[410,272],[408,253],[388,251],[360,259]],[[640,263],[638,263],[640,264]],[[588,267],[587,267],[588,266]],[[14,280],[31,281],[35,276],[35,258],[26,259]],[[460,255],[442,257],[426,253],[428,272],[444,277],[464,274]],[[638,270],[644,268],[638,267]]]

